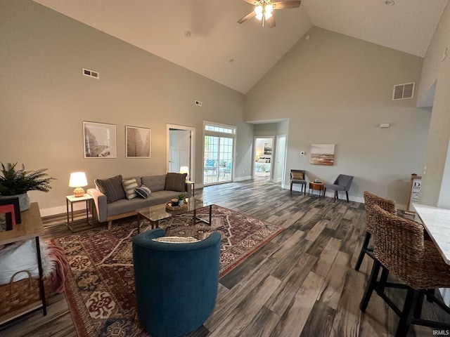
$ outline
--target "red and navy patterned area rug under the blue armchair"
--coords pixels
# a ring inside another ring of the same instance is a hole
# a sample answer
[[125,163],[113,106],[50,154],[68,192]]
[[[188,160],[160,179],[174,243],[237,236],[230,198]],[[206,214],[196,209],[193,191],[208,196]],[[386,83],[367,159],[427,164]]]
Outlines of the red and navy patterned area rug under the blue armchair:
[[[209,208],[198,210],[208,218]],[[65,294],[79,337],[147,336],[136,316],[131,242],[137,234],[136,219],[115,221],[111,230],[99,227],[88,232],[60,237],[70,265]],[[204,239],[221,233],[220,276],[283,230],[283,227],[212,206],[212,225],[192,225],[192,214],[172,216],[160,222],[167,236]],[[141,232],[149,230],[148,223]]]

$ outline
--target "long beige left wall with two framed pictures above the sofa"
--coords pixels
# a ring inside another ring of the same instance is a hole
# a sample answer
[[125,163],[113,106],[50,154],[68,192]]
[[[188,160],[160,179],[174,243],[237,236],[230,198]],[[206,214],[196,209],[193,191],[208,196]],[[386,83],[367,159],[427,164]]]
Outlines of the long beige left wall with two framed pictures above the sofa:
[[[32,1],[0,2],[0,34],[0,160],[58,179],[49,193],[30,192],[41,209],[60,211],[72,171],[86,171],[89,187],[94,178],[165,173],[167,123],[196,128],[196,183],[204,119],[238,127],[236,178],[250,173],[243,94]],[[82,121],[116,124],[117,159],[84,159]],[[125,158],[126,125],[151,128],[150,159]]]

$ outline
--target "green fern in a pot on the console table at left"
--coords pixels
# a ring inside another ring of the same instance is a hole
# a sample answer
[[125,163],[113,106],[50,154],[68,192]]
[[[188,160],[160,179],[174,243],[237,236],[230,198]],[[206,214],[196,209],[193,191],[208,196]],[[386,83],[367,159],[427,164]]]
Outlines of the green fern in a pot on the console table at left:
[[30,198],[28,191],[42,191],[49,192],[51,186],[50,181],[55,178],[47,178],[47,169],[39,169],[37,171],[25,171],[25,166],[22,164],[22,169],[15,169],[15,164],[8,163],[6,166],[1,163],[0,176],[0,198],[6,199],[11,197],[18,197],[20,204],[20,211],[25,211],[30,208]]

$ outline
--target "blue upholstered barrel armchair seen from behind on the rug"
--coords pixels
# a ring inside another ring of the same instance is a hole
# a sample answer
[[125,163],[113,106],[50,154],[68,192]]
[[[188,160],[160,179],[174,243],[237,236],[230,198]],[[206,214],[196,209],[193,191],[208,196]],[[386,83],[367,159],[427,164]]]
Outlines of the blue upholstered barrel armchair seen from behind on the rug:
[[221,237],[195,243],[155,242],[157,228],[133,238],[134,283],[139,322],[151,336],[183,336],[214,310]]

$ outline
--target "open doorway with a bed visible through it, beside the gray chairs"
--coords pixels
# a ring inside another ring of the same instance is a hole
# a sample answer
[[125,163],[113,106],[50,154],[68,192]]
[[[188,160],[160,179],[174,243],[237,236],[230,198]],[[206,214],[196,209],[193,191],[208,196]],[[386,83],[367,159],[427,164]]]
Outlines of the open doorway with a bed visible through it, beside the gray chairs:
[[253,164],[253,177],[255,179],[270,181],[273,163],[274,137],[255,137],[253,148],[255,159]]

